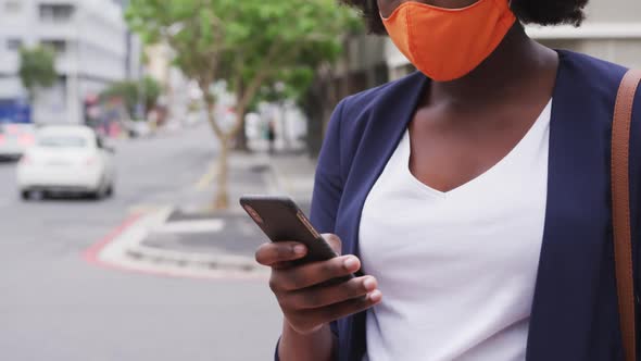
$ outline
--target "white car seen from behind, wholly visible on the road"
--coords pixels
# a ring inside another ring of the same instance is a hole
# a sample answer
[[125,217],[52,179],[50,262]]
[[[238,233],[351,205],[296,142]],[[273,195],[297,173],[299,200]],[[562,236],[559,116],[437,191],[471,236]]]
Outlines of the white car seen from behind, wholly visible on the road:
[[33,191],[75,192],[93,198],[114,190],[114,150],[86,126],[51,125],[36,133],[36,144],[17,164],[23,199]]

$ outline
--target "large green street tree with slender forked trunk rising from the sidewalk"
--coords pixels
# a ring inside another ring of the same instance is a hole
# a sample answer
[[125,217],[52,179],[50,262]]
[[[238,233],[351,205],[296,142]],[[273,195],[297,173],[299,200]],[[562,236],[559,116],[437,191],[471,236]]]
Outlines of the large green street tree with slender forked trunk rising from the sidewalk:
[[[133,0],[131,28],[148,42],[165,41],[175,64],[203,92],[208,120],[219,142],[214,208],[228,206],[228,153],[243,129],[259,90],[294,78],[341,50],[341,35],[355,15],[335,0]],[[313,62],[306,60],[313,59]],[[236,95],[236,121],[216,119],[211,87],[224,79]]]

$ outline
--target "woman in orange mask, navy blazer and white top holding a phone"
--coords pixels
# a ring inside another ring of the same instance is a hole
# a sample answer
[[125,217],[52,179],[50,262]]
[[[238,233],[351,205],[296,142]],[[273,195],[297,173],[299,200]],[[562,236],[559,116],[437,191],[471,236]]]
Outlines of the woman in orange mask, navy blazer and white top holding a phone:
[[626,70],[521,26],[578,26],[587,0],[349,2],[419,72],[330,121],[312,222],[348,256],[294,267],[296,239],[256,251],[285,314],[276,357],[621,360],[608,159]]

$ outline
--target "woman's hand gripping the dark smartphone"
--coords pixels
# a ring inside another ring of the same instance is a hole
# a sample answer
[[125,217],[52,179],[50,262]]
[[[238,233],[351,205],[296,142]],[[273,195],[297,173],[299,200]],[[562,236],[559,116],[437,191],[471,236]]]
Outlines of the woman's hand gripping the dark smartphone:
[[[323,237],[340,254],[340,239],[330,234]],[[373,276],[327,284],[359,271],[361,262],[356,257],[291,265],[290,261],[305,257],[306,251],[302,244],[279,241],[262,245],[255,254],[259,263],[272,267],[269,287],[293,331],[301,335],[314,333],[331,321],[380,302],[382,295]]]

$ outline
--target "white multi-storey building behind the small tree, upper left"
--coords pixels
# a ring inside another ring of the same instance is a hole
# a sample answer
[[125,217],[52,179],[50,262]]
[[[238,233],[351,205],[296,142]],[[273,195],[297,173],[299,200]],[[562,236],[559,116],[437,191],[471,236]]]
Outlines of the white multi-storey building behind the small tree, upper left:
[[[115,0],[0,0],[0,108],[26,102],[21,47],[56,53],[59,82],[39,91],[37,123],[83,123],[83,107],[110,83],[140,75],[140,43]],[[0,111],[1,113],[1,111]]]

